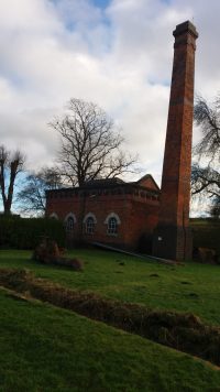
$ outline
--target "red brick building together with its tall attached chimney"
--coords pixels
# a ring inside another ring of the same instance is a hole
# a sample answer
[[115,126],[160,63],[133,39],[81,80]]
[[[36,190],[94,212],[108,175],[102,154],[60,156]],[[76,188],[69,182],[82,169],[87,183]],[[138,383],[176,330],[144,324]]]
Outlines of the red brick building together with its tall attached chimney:
[[46,215],[66,222],[69,241],[85,239],[136,248],[144,235],[153,233],[154,255],[190,259],[191,133],[198,33],[187,21],[178,24],[173,34],[162,192],[151,175],[135,183],[114,178],[95,181],[81,188],[47,192]]

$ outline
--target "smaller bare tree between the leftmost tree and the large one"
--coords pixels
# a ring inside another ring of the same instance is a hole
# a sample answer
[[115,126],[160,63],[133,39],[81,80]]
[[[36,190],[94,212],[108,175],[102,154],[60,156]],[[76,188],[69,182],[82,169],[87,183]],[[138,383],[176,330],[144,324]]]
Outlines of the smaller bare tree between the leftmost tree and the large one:
[[44,215],[46,205],[45,190],[61,187],[61,175],[54,167],[42,167],[38,172],[30,173],[16,196],[20,210],[34,216]]

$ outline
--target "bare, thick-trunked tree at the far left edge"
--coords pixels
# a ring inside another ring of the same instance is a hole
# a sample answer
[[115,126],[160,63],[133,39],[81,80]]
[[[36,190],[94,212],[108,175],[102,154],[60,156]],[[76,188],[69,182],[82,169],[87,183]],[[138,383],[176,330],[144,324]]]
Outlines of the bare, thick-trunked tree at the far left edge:
[[23,170],[24,154],[21,151],[11,152],[0,145],[0,187],[4,214],[11,214],[14,183],[18,174]]

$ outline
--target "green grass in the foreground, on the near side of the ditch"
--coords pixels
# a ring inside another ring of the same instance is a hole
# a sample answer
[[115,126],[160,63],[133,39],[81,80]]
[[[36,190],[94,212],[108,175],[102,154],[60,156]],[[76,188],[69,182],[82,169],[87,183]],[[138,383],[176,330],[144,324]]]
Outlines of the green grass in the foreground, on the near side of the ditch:
[[0,291],[1,391],[220,391],[220,371],[138,336]]

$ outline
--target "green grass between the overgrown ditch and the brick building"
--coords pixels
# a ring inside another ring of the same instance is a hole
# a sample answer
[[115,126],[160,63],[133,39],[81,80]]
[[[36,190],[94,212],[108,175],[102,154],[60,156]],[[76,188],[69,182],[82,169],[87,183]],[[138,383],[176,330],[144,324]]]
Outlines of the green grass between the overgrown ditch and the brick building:
[[28,268],[37,276],[70,288],[153,308],[193,312],[208,324],[220,325],[219,265],[188,262],[185,266],[167,266],[98,250],[77,250],[74,254],[85,262],[81,273],[37,264],[28,251],[0,251],[0,266]]

